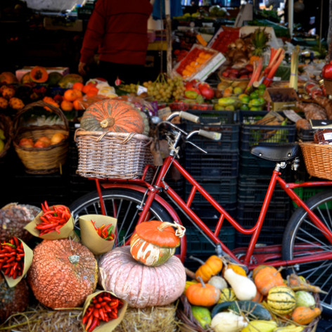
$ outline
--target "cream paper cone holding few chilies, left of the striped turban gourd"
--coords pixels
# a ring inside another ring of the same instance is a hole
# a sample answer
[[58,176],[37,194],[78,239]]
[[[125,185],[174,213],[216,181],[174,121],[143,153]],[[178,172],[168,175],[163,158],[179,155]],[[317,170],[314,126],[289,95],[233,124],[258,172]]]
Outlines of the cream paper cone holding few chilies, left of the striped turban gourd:
[[[113,240],[102,238],[97,229],[103,225],[112,224]],[[79,217],[79,228],[81,229],[82,243],[91,250],[94,255],[101,255],[112,250],[115,241],[115,229],[117,219],[105,215],[82,215]],[[95,228],[96,227],[96,228]]]

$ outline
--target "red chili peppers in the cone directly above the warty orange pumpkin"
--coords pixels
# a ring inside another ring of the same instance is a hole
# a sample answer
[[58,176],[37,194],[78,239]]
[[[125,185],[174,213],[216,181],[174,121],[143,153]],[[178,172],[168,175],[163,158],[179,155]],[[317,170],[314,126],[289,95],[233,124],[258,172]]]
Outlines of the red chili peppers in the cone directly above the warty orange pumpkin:
[[70,219],[69,209],[65,205],[53,205],[51,208],[46,200],[44,204],[41,203],[41,210],[43,215],[39,217],[41,222],[35,226],[39,229],[39,235],[57,231],[60,234],[60,228]]

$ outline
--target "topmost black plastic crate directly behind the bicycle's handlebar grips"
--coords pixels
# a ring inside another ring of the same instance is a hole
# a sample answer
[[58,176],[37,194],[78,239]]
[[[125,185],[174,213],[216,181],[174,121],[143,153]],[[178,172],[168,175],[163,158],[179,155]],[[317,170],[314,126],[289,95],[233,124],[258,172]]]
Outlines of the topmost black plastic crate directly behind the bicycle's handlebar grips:
[[[187,110],[186,112],[191,113],[200,117],[200,124],[234,124],[237,121],[237,112],[231,110]],[[188,120],[182,120],[184,124],[189,123]],[[190,122],[193,123],[193,122]]]

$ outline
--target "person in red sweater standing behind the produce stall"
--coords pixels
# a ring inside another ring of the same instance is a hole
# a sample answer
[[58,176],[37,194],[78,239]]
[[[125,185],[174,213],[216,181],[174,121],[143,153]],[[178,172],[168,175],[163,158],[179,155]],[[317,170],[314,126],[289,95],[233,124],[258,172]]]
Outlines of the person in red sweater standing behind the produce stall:
[[98,0],[84,34],[79,74],[92,75],[89,65],[98,53],[94,77],[110,85],[117,77],[125,84],[142,80],[152,9],[148,0]]

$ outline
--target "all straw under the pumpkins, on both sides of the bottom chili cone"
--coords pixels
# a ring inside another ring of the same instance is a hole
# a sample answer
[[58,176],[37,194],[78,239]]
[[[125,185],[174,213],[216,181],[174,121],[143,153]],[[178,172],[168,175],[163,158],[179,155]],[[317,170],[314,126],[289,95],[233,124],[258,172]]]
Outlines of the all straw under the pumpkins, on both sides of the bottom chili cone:
[[[128,307],[124,319],[113,331],[177,332],[176,309],[176,305],[144,309]],[[11,315],[0,324],[0,332],[82,332],[81,321],[82,308],[52,310],[38,304]]]

